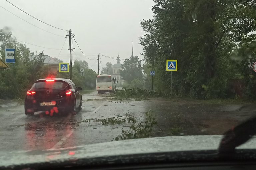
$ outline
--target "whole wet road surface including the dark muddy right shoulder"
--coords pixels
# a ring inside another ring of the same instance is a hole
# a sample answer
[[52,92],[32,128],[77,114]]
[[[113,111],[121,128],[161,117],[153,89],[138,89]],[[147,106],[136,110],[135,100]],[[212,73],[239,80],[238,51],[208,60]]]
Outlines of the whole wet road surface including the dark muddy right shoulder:
[[[151,137],[173,135],[222,135],[255,116],[255,103],[207,104],[204,101],[114,100],[96,91],[83,95],[83,109],[76,115],[24,114],[24,105],[0,100],[0,151],[46,150],[115,141],[130,123],[104,124],[95,119],[132,115],[145,122],[151,109],[157,124]],[[93,119],[86,122],[86,119]],[[136,125],[137,125],[136,123]]]

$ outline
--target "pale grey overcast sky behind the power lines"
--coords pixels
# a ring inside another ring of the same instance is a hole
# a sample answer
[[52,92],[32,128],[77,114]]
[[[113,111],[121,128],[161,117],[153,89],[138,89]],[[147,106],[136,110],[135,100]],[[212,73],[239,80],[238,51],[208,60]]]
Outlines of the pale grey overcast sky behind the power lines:
[[[97,54],[126,59],[132,54],[132,41],[134,41],[134,55],[140,55],[142,46],[138,38],[143,35],[140,27],[142,19],[151,19],[154,5],[153,0],[9,0],[14,5],[26,11],[30,15],[53,26],[69,30],[75,35],[75,39],[85,53],[94,60],[83,56],[75,41],[73,60],[80,59],[88,62],[90,68],[97,71]],[[17,40],[47,48],[61,49],[67,31],[47,26],[8,2],[1,0],[0,5],[20,18],[54,34],[40,30],[29,23],[14,16],[0,7],[0,28],[9,27]],[[4,16],[4,17],[3,17]],[[22,42],[21,42],[22,43]],[[26,44],[26,43],[24,43]],[[31,52],[38,53],[44,50],[45,55],[57,57],[60,50],[51,50],[26,44]],[[68,38],[60,53],[59,59],[69,62]],[[116,60],[101,56],[101,67],[106,62],[116,63]],[[122,63],[122,62],[121,62]]]

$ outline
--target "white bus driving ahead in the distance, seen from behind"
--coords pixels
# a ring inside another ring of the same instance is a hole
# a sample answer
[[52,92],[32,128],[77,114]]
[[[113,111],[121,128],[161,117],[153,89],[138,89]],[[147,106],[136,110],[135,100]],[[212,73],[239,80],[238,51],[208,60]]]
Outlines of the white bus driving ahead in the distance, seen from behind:
[[113,93],[116,91],[116,84],[118,81],[111,75],[98,75],[96,79],[96,90],[98,93]]

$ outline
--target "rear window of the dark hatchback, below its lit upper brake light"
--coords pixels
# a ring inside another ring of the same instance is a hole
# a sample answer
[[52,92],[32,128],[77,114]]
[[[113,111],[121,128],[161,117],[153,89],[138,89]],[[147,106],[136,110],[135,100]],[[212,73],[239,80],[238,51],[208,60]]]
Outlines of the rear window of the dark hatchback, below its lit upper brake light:
[[64,89],[67,86],[68,86],[68,83],[64,81],[54,81],[54,82],[40,81],[34,84],[34,88],[36,89],[42,89],[42,88]]

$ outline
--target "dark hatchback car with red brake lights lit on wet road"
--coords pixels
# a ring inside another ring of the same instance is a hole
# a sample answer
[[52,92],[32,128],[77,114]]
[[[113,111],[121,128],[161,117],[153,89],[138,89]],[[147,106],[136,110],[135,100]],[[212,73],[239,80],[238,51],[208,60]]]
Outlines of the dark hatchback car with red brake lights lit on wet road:
[[39,79],[27,91],[25,98],[25,114],[33,115],[38,111],[53,113],[76,114],[82,109],[81,87],[70,79],[52,78]]

